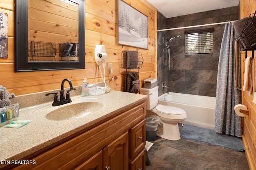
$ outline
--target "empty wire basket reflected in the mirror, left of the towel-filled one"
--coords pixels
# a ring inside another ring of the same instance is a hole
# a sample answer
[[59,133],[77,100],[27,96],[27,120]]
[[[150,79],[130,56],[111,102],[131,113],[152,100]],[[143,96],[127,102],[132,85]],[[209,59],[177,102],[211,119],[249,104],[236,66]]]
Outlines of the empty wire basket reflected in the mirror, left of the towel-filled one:
[[56,44],[38,41],[28,41],[28,56],[55,57]]

